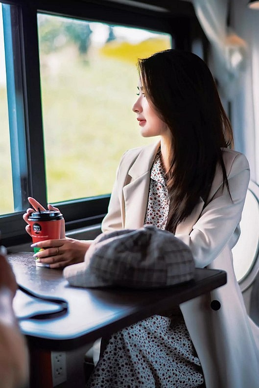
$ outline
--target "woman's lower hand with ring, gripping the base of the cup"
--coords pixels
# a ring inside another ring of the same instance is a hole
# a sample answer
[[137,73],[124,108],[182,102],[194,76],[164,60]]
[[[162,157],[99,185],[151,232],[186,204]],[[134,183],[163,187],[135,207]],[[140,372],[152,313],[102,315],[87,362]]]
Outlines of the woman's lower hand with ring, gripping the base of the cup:
[[80,241],[73,238],[45,240],[32,244],[31,247],[43,248],[34,254],[38,262],[49,264],[50,268],[64,268],[71,264],[81,263],[92,240]]

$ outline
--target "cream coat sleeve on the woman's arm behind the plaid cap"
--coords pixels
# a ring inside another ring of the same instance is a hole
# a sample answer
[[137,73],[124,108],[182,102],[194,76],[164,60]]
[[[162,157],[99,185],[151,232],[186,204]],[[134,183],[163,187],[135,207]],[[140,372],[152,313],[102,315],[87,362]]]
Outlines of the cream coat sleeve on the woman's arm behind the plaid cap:
[[227,244],[230,249],[235,245],[249,179],[248,161],[244,155],[237,154],[228,174],[232,198],[226,185],[221,184],[190,234],[176,234],[191,249],[197,268],[209,265]]

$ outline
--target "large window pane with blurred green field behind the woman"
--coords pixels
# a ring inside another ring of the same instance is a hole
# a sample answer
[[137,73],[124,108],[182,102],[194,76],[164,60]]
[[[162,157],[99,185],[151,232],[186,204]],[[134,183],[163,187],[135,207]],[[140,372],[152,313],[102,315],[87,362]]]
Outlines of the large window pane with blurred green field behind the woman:
[[38,13],[48,202],[110,193],[122,153],[139,135],[131,107],[138,57],[171,35]]

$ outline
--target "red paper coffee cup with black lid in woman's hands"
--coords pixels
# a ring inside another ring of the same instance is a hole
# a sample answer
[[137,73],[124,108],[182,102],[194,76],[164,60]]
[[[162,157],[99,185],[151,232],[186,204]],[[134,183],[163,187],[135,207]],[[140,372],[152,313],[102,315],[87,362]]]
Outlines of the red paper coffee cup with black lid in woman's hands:
[[[32,242],[38,243],[44,240],[59,239],[62,220],[63,215],[57,210],[44,210],[31,213],[28,217],[28,222]],[[34,247],[33,250],[34,253],[37,253],[43,250],[43,248]]]

